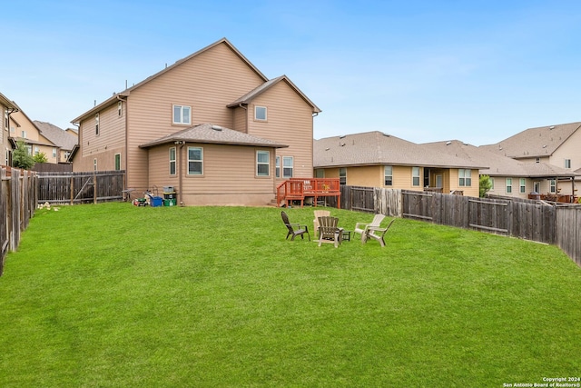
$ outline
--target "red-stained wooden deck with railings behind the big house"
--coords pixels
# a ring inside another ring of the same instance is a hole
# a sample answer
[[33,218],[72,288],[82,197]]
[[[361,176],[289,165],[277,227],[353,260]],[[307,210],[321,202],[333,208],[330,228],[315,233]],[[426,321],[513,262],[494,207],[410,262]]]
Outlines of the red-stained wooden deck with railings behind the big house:
[[289,206],[291,201],[300,201],[303,207],[305,199],[312,197],[317,206],[320,197],[335,196],[340,206],[340,195],[339,178],[291,178],[277,186],[276,203]]

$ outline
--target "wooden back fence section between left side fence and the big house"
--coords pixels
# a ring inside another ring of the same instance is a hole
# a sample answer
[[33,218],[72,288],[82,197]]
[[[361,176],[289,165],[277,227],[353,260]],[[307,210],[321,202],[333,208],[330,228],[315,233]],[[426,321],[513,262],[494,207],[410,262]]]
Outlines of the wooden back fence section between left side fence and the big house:
[[124,171],[38,174],[38,202],[88,204],[123,199]]

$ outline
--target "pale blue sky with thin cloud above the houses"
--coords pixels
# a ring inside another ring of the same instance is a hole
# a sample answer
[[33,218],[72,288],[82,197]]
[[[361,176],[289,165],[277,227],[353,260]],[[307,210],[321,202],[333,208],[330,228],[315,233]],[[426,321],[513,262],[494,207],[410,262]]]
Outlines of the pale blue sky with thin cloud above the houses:
[[0,92],[62,128],[222,37],[320,107],[317,139],[481,145],[581,121],[573,0],[24,0],[3,15]]

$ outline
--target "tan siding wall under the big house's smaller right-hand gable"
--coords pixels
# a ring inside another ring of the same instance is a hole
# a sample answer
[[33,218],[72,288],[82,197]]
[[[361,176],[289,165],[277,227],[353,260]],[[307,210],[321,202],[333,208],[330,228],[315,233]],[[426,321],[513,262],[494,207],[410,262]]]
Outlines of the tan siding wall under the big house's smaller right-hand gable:
[[[254,107],[267,107],[267,120],[254,120]],[[286,82],[273,85],[249,104],[248,133],[270,139],[288,148],[277,154],[294,157],[294,177],[312,177],[312,107]]]

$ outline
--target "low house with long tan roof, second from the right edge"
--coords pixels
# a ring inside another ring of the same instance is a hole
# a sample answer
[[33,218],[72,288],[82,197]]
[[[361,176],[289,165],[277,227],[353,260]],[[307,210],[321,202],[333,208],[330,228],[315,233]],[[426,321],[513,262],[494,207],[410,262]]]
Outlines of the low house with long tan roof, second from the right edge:
[[559,189],[570,192],[576,176],[570,170],[545,162],[522,163],[485,147],[464,144],[458,140],[421,144],[432,152],[453,154],[475,164],[487,164],[479,174],[489,175],[492,189],[489,194],[535,198],[536,194],[556,195]]

